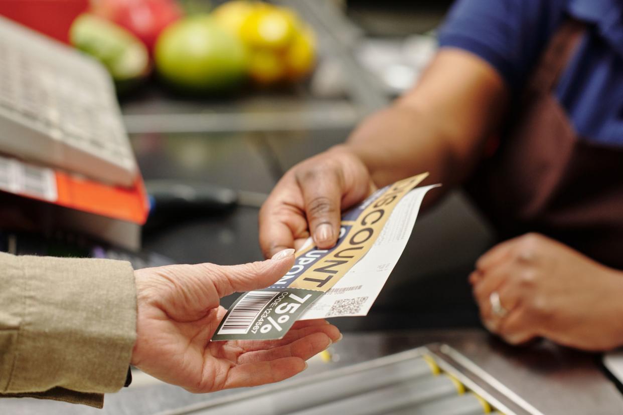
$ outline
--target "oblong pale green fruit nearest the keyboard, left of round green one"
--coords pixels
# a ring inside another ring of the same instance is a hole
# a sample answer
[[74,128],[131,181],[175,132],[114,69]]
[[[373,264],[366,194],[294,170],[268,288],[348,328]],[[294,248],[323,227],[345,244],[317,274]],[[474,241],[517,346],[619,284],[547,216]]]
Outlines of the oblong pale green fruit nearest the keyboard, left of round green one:
[[102,62],[115,82],[126,83],[149,73],[145,45],[128,30],[101,17],[88,13],[78,16],[69,38],[74,47]]

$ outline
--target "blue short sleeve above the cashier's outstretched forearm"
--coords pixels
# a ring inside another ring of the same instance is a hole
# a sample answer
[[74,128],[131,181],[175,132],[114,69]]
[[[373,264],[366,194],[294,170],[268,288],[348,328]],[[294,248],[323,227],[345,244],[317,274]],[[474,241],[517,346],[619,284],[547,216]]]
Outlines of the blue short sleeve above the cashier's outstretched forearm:
[[516,91],[561,21],[565,4],[566,0],[458,0],[440,29],[439,45],[477,55]]

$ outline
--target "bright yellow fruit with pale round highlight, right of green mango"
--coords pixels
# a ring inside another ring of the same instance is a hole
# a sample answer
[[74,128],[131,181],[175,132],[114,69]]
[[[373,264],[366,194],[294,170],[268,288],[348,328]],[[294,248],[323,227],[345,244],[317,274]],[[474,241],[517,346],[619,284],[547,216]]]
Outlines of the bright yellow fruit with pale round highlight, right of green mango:
[[285,49],[296,34],[296,25],[291,12],[273,6],[256,7],[240,27],[240,35],[252,47]]

